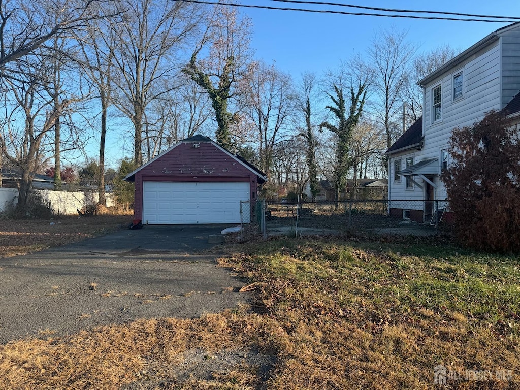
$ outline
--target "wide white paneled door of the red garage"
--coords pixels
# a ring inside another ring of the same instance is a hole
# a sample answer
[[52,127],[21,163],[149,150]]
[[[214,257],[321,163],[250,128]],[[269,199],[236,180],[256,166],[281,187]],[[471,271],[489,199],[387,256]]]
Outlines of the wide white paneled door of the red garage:
[[[142,223],[149,225],[240,223],[240,201],[250,199],[249,191],[249,182],[145,181]],[[244,213],[243,222],[249,222],[249,219],[249,213]]]

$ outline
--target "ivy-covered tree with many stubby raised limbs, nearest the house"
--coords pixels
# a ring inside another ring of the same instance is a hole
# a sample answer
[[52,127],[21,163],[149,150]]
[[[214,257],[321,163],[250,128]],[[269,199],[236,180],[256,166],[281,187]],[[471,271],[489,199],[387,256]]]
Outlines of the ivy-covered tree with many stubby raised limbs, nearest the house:
[[367,98],[366,84],[360,83],[357,90],[350,87],[350,108],[348,110],[343,97],[343,89],[336,84],[333,85],[335,96],[327,94],[334,103],[334,106],[327,106],[336,118],[336,124],[330,122],[322,122],[320,130],[328,129],[337,136],[337,146],[335,152],[334,167],[334,186],[336,208],[339,207],[341,191],[345,189],[347,183],[347,174],[352,166],[352,158],[349,157],[350,141],[354,128],[359,123],[359,118],[363,112],[363,105]]

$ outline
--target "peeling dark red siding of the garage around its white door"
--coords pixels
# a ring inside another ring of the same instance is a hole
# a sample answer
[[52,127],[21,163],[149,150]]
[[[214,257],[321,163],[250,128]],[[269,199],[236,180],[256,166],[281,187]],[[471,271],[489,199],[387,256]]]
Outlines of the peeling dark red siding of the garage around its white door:
[[249,181],[251,200],[256,200],[258,191],[258,175],[209,140],[181,141],[135,171],[135,220],[142,219],[143,181]]

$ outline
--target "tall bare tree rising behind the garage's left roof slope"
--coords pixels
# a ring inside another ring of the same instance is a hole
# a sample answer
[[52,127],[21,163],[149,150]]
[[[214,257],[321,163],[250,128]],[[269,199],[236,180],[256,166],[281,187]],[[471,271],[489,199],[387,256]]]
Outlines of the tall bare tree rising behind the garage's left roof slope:
[[[134,162],[142,164],[145,117],[150,104],[178,87],[180,52],[193,40],[200,7],[175,0],[124,0],[122,22],[112,23],[113,102],[134,127]],[[164,87],[165,80],[168,81]],[[158,87],[160,86],[160,87]],[[147,134],[145,134],[145,137]]]

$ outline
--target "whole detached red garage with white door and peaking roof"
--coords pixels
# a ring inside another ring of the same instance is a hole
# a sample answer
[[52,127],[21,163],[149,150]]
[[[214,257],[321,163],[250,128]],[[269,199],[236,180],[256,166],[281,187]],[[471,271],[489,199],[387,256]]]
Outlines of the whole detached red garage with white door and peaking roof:
[[[256,201],[267,180],[256,167],[196,135],[178,142],[130,173],[134,223],[145,225],[240,223],[240,201]],[[249,222],[250,215],[243,215]]]

